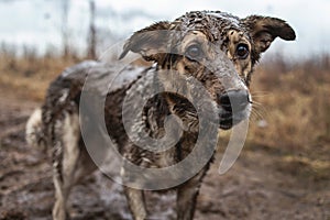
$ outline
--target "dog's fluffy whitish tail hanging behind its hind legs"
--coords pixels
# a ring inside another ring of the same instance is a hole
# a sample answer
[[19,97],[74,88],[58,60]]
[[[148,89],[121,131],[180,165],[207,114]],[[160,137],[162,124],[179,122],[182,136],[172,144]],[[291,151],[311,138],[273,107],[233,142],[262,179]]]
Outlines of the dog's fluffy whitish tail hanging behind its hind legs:
[[42,122],[42,109],[35,109],[28,120],[25,128],[25,139],[30,146],[46,148],[45,135]]

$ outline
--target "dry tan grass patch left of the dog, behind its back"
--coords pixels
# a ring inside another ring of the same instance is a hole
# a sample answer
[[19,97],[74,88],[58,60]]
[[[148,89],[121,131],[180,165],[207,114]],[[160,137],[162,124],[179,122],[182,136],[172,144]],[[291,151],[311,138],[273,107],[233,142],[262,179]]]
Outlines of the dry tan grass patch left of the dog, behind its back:
[[21,98],[43,100],[50,82],[64,68],[77,63],[74,57],[0,56],[0,87]]

